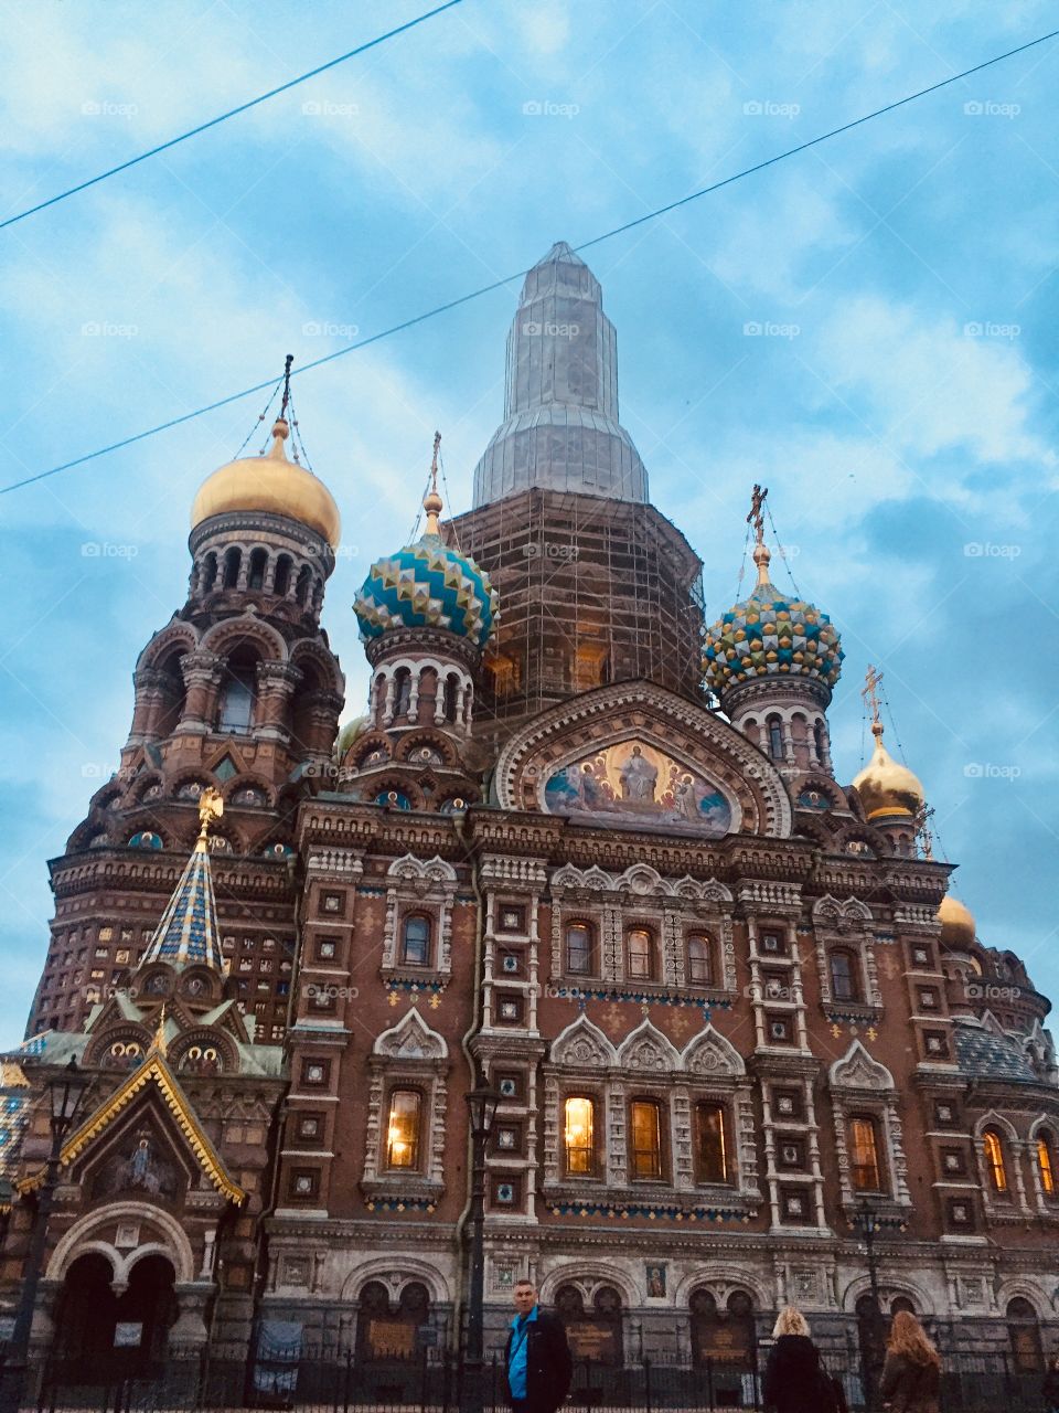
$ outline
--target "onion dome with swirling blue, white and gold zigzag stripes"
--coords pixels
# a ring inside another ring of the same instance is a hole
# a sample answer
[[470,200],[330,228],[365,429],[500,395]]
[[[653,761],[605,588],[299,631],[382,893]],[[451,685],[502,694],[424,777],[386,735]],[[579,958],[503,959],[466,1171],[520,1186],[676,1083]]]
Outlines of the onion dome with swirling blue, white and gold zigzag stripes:
[[433,480],[422,504],[425,534],[376,560],[360,586],[353,603],[360,636],[370,642],[390,629],[441,627],[484,647],[500,620],[500,601],[486,572],[441,537],[436,449]]

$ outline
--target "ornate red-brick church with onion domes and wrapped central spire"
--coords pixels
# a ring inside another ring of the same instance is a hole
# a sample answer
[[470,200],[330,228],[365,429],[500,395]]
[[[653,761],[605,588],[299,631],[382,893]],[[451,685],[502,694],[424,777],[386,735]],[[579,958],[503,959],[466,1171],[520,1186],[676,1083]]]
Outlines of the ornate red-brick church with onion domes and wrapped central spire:
[[357,595],[371,681],[342,731],[337,509],[288,420],[196,497],[188,601],[52,863],[8,1057],[27,1201],[34,1077],[93,1074],[41,1330],[86,1262],[124,1290],[143,1246],[185,1344],[452,1342],[480,1070],[494,1342],[530,1275],[611,1364],[750,1358],[786,1303],[856,1344],[878,1297],[1029,1366],[1059,1330],[1049,1002],[949,893],[878,675],[843,783],[830,619],[772,584],[755,487],[757,582],[709,622],[568,246],[527,276],[507,369],[472,510],[442,521],[435,476],[422,537]]

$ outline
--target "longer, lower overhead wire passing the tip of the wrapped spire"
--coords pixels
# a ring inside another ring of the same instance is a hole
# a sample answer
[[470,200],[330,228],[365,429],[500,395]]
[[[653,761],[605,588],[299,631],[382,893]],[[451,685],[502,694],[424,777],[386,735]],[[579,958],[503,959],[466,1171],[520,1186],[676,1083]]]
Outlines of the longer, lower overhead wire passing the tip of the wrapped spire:
[[[929,88],[918,89],[915,93],[909,93],[907,97],[895,99],[892,103],[887,103],[884,107],[877,107],[874,112],[866,113],[863,117],[856,117],[849,123],[843,123],[840,127],[830,129],[827,133],[820,133],[819,137],[813,137],[806,143],[799,143],[796,147],[788,147],[786,151],[777,153],[774,157],[755,162],[753,167],[744,167],[743,171],[734,172],[731,177],[724,177],[722,181],[716,181],[709,187],[702,187],[699,191],[693,191],[688,196],[681,196],[679,201],[671,201],[668,205],[658,206],[655,211],[637,216],[634,220],[627,220],[620,226],[614,226],[613,230],[606,230],[602,236],[593,236],[590,240],[583,240],[573,249],[587,250],[592,246],[600,244],[603,240],[611,240],[614,236],[624,235],[624,232],[633,230],[635,226],[642,226],[648,220],[657,220],[659,216],[665,216],[668,212],[676,211],[679,206],[686,206],[689,202],[699,201],[702,196],[709,196],[710,192],[720,191],[723,187],[730,187],[733,182],[741,181],[744,177],[751,177],[754,172],[764,171],[767,167],[775,167],[777,162],[782,162],[788,157],[805,153],[810,147],[818,147],[820,143],[826,143],[832,137],[839,137],[842,133],[849,133],[854,127],[861,127],[864,123],[870,123],[875,117],[882,117],[885,113],[892,113],[895,109],[914,103],[916,99],[926,97],[929,93],[936,93],[939,89],[949,88],[952,83],[959,83],[962,79],[970,78],[971,73],[980,73],[983,69],[988,69],[994,64],[1001,64],[1004,59],[1011,59],[1017,54],[1025,54],[1027,49],[1032,49],[1039,44],[1046,44],[1048,40],[1053,40],[1058,35],[1059,30],[1052,30],[1048,34],[1039,35],[1036,40],[1019,44],[1018,48],[1007,49],[1004,54],[997,54],[991,59],[974,64],[971,68],[953,73],[947,79],[931,83]],[[415,328],[417,324],[425,324],[428,319],[433,319],[439,314],[448,314],[449,309],[456,309],[462,304],[479,300],[484,294],[491,294],[494,290],[503,290],[504,285],[511,284],[513,280],[524,278],[528,273],[528,270],[517,270],[514,274],[504,276],[501,280],[493,280],[491,284],[483,284],[480,288],[472,290],[469,294],[462,294],[455,300],[448,300],[445,304],[438,304],[432,309],[426,309],[424,314],[417,314],[409,319],[402,319],[400,324],[391,324],[387,329],[380,329],[377,333],[370,333],[367,338],[357,339],[354,343],[347,343],[345,348],[336,349],[333,353],[325,353],[322,357],[304,363],[301,367],[294,370],[292,376],[297,377],[302,373],[309,373],[315,367],[322,367],[325,363],[333,363],[335,359],[345,357],[347,353],[354,353],[357,349],[367,348],[370,343],[378,343],[381,339],[388,339],[394,333],[402,333],[405,329]],[[160,422],[157,427],[148,427],[145,431],[123,437],[120,441],[110,442],[107,447],[100,447],[97,451],[86,452],[83,456],[75,456],[72,461],[65,461],[58,466],[49,468],[48,471],[37,472],[35,476],[25,476],[23,480],[13,480],[10,485],[0,487],[0,495],[7,495],[11,490],[21,490],[24,486],[31,486],[38,480],[47,480],[49,476],[58,476],[64,471],[72,471],[75,466],[83,466],[85,462],[96,461],[99,456],[106,456],[113,451],[121,451],[124,447],[133,447],[136,442],[141,442],[148,437],[155,437],[158,432],[169,431],[169,428],[179,427],[196,417],[205,417],[206,413],[213,413],[220,407],[227,407],[230,403],[237,403],[243,397],[253,397],[254,393],[273,387],[274,382],[274,376],[267,377],[261,383],[254,383],[253,387],[244,387],[241,391],[230,393],[227,397],[220,397],[215,403],[208,403],[205,407],[196,407],[192,413],[182,413],[179,417],[172,417],[169,421]]]

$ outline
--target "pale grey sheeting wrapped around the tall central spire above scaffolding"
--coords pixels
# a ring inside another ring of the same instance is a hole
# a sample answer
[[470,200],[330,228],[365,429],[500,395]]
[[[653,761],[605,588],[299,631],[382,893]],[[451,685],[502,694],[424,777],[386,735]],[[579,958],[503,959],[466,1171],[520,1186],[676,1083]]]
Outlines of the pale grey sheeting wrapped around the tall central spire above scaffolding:
[[561,242],[522,285],[504,421],[474,468],[474,504],[531,486],[645,502],[647,471],[617,417],[614,325],[599,280]]

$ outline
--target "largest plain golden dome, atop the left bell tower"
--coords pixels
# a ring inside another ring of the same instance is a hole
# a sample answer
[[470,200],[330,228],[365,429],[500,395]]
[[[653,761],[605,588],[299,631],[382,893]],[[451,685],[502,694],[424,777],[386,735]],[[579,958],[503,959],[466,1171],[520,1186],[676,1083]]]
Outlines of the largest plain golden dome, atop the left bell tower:
[[337,550],[342,519],[335,497],[311,471],[287,459],[284,442],[288,435],[289,427],[281,417],[273,427],[274,441],[264,456],[241,456],[208,476],[191,507],[192,530],[210,516],[263,510],[298,520]]

